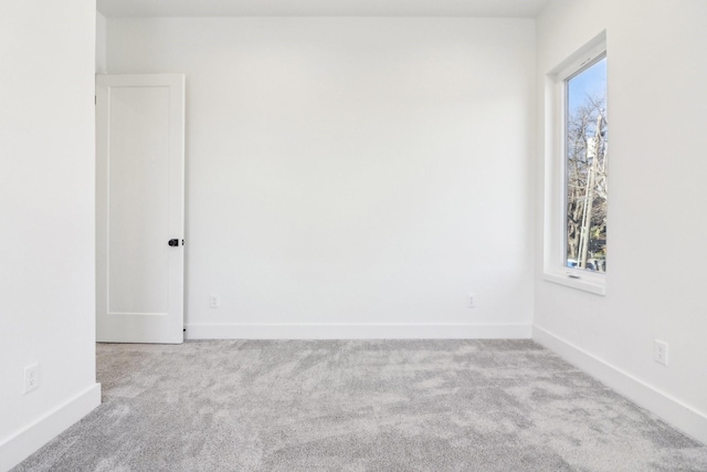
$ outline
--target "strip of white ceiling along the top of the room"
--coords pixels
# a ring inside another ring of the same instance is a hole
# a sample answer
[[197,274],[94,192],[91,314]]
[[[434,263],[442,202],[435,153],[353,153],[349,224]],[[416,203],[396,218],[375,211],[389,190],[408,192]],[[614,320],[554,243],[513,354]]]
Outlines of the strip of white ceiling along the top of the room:
[[120,17],[534,18],[549,0],[97,0]]

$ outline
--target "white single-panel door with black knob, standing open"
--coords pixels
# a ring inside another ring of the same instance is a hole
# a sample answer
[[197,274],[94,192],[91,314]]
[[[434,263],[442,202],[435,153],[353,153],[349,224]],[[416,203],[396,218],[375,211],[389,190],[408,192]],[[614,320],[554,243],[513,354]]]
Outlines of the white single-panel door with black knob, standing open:
[[96,338],[183,340],[184,76],[96,76]]

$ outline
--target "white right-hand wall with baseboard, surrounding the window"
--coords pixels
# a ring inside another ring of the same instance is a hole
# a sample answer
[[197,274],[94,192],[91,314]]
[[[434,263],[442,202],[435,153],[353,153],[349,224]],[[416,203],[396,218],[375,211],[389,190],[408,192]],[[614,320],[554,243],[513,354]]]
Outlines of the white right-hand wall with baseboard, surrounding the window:
[[[606,296],[541,279],[541,211],[535,291],[537,339],[703,441],[705,24],[707,2],[694,0],[555,1],[538,18],[540,101],[545,74],[606,30],[611,155]],[[538,169],[542,154],[540,143]],[[538,183],[541,209],[541,171]],[[655,338],[669,344],[667,367]]]

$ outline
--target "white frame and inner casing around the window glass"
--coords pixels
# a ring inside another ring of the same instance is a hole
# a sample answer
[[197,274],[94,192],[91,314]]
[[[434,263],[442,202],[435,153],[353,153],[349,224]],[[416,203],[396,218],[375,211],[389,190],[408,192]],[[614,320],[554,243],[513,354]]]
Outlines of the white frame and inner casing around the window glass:
[[[546,75],[544,280],[597,295],[606,294],[606,273],[568,268],[567,81],[608,57],[605,31]],[[608,101],[609,102],[609,101]]]

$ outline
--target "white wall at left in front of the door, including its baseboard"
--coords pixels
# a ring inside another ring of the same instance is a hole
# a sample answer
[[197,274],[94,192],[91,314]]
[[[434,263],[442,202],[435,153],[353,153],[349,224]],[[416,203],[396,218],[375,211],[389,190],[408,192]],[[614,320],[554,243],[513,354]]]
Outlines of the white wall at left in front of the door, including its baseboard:
[[101,401],[94,34],[91,0],[0,3],[0,470]]

